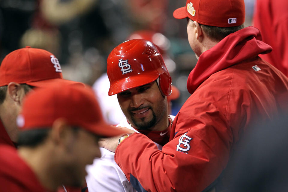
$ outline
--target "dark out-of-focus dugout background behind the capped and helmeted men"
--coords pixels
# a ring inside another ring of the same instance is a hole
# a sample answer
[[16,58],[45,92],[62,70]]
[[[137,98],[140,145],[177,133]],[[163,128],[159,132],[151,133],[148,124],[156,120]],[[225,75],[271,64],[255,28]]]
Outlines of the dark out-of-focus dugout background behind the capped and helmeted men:
[[[187,41],[185,19],[173,11],[185,0],[0,0],[0,56],[25,46],[46,49],[59,59],[65,79],[93,85],[106,72],[110,51],[137,30],[169,39],[167,68],[180,97],[176,115],[190,96],[186,81],[197,60]],[[251,25],[254,0],[245,0]]]

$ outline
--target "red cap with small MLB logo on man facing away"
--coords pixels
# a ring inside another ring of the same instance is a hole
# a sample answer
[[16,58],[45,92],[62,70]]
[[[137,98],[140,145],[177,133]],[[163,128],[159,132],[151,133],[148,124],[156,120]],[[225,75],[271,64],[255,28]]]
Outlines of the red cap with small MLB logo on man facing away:
[[200,24],[216,27],[240,26],[245,21],[244,0],[187,0],[173,13],[176,19],[189,17]]

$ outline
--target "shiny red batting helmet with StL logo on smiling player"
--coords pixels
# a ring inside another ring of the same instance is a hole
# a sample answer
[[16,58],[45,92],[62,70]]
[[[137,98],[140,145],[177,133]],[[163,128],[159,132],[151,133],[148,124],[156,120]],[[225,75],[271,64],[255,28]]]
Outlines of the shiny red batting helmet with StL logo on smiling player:
[[156,46],[144,39],[125,41],[107,58],[108,95],[139,87],[159,78],[164,95],[171,94],[171,76]]

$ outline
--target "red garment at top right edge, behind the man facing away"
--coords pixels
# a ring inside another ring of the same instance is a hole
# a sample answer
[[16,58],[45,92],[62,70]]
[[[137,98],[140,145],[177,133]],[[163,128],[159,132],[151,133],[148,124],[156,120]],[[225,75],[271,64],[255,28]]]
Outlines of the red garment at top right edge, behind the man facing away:
[[257,0],[254,26],[273,51],[260,57],[288,76],[288,1]]

